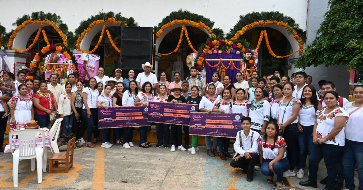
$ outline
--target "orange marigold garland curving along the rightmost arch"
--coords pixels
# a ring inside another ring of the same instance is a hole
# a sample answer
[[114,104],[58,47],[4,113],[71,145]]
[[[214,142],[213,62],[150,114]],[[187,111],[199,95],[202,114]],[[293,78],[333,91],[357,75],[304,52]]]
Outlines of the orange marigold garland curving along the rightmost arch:
[[[291,31],[292,35],[294,35],[295,40],[298,41],[298,43],[299,43],[299,50],[298,50],[299,55],[302,55],[302,53],[304,51],[304,44],[302,42],[302,39],[299,37],[299,35],[297,35],[297,32],[291,26],[289,26],[288,24],[286,24],[285,22],[282,22],[282,21],[276,21],[276,20],[275,21],[270,21],[270,20],[268,20],[268,21],[253,22],[253,23],[251,23],[249,25],[244,26],[241,30],[238,30],[236,32],[236,34],[234,34],[234,36],[231,39],[238,39],[241,35],[243,35],[250,28],[253,28],[255,26],[265,26],[265,25],[268,25],[268,24],[276,24],[276,25],[279,25],[279,26],[284,26],[285,29]],[[265,33],[265,36],[267,36],[266,33]],[[260,38],[261,38],[261,36],[260,36]],[[267,40],[266,40],[266,42],[267,42]],[[291,55],[293,55],[293,54],[290,54],[290,56]],[[276,57],[281,57],[281,56],[276,56]]]

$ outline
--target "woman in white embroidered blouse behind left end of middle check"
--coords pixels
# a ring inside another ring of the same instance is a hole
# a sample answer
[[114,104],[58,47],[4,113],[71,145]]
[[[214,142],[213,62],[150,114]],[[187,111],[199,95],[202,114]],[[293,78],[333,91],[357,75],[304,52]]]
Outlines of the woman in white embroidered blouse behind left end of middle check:
[[[166,84],[161,83],[158,84],[159,94],[154,96],[152,101],[154,102],[168,102],[168,94],[166,94]],[[164,145],[164,148],[169,148],[169,138],[170,138],[170,130],[169,124],[166,123],[155,123],[156,126],[156,136],[158,138],[158,144],[156,144],[155,148],[160,148]],[[164,138],[164,144],[163,144]]]

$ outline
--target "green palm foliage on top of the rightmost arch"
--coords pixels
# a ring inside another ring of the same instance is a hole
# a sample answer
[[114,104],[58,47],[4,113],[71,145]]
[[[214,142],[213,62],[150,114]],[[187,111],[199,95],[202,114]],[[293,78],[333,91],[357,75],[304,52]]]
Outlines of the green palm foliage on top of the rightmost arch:
[[247,13],[245,15],[240,16],[240,20],[237,22],[236,25],[233,26],[229,30],[229,33],[227,34],[227,39],[230,39],[236,34],[238,30],[241,30],[244,26],[251,24],[252,22],[257,21],[267,21],[267,20],[276,20],[276,21],[282,21],[287,23],[289,26],[291,26],[299,35],[299,37],[302,39],[303,42],[306,40],[306,31],[303,31],[300,28],[300,25],[295,22],[295,20],[289,16],[285,16],[284,14],[278,12],[278,11],[271,11],[271,12],[252,12]]

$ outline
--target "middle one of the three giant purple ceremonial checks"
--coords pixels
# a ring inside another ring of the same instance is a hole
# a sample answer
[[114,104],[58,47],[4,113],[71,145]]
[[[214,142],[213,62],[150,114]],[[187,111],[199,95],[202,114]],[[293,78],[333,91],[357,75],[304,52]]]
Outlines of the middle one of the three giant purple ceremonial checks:
[[148,121],[177,125],[189,125],[191,112],[198,111],[195,104],[174,104],[164,102],[149,102]]

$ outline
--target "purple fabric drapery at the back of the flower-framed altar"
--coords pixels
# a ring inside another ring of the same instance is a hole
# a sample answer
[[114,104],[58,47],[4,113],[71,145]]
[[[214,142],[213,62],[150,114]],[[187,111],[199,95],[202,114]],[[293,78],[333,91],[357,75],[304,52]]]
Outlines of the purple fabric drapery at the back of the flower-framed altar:
[[[220,54],[220,53],[212,53],[212,54],[207,54],[205,55],[205,59],[241,59],[242,58],[242,54]],[[241,61],[233,61],[234,62],[234,65],[239,69],[240,66],[241,66]],[[208,61],[208,63],[211,65],[211,66],[215,66],[218,61]],[[220,67],[221,65],[225,66],[225,67],[228,67],[229,65],[229,61],[222,61],[218,67]],[[207,83],[210,83],[212,82],[212,75],[213,75],[213,72],[218,72],[217,71],[217,68],[218,67],[209,67],[207,63],[205,63],[205,72],[206,72],[206,81]],[[231,77],[231,83],[235,83],[235,79],[236,79],[236,73],[238,72],[237,69],[233,68],[232,69],[232,63],[231,63],[231,66],[227,69],[227,72],[226,72],[226,75],[230,76]],[[223,81],[223,79],[220,79],[221,81]]]

